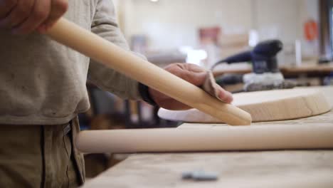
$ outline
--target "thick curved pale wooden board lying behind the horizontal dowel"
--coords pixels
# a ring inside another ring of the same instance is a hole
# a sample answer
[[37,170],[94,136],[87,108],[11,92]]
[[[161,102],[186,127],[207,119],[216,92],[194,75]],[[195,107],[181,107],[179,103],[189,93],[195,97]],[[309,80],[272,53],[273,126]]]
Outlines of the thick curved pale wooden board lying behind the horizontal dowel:
[[[332,90],[333,88],[329,88]],[[325,91],[325,93],[331,93]],[[233,95],[234,102],[252,115],[253,122],[292,120],[327,113],[332,108],[327,97],[318,88],[269,90]],[[199,110],[159,109],[159,117],[182,122],[221,122]]]

